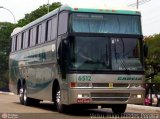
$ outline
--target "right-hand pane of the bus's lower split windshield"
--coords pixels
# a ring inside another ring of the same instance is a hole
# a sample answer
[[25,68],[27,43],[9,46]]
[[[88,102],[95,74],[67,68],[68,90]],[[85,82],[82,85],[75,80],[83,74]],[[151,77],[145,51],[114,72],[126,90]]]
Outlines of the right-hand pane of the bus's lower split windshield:
[[137,38],[111,38],[113,70],[143,70],[140,40]]

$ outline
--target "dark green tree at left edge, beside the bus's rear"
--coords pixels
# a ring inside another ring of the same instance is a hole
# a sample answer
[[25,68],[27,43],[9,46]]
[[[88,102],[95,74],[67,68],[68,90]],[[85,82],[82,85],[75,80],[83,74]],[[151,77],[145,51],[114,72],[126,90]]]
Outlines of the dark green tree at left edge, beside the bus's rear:
[[8,86],[8,58],[10,51],[10,34],[15,28],[11,23],[0,23],[0,89]]

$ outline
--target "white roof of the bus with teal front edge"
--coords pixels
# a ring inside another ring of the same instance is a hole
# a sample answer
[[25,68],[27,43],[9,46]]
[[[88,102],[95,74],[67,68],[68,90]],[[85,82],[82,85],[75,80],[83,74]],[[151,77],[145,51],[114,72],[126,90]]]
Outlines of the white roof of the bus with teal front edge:
[[[35,21],[27,24],[26,26],[23,26],[21,29],[13,30],[11,33],[11,36],[18,34],[19,32],[22,32],[31,26],[34,26],[54,15],[56,15],[59,11],[72,11],[72,12],[86,12],[86,13],[110,13],[110,14],[128,14],[128,15],[140,15],[140,12],[137,9],[130,9],[129,7],[74,7],[69,5],[63,5],[60,8],[57,8],[48,14],[36,19]],[[16,29],[16,28],[15,28]]]

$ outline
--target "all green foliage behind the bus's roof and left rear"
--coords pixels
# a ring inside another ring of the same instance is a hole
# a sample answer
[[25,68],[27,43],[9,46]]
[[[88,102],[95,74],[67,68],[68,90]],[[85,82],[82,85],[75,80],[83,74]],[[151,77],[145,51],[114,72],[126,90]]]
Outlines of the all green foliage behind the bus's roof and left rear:
[[[50,5],[49,10],[52,11],[59,6],[61,6],[61,3],[53,3]],[[0,22],[0,90],[8,87],[8,62],[11,46],[10,35],[13,29],[16,27],[22,27],[47,13],[48,6],[43,5],[31,13],[26,14],[23,19],[18,21],[18,24]]]

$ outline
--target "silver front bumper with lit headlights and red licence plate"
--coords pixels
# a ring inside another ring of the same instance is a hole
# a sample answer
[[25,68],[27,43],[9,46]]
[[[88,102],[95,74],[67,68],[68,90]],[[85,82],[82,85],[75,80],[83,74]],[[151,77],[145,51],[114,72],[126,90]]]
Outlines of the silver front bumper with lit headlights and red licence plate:
[[144,104],[145,89],[70,89],[69,104]]

